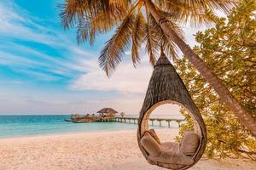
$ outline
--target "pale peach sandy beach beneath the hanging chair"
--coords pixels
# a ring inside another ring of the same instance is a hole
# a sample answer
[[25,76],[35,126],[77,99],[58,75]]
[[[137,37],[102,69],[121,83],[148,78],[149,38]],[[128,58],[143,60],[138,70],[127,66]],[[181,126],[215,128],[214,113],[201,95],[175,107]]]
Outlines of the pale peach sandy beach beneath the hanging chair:
[[[158,130],[163,141],[177,129]],[[256,162],[242,159],[201,160],[195,170],[255,169]],[[144,160],[137,146],[136,131],[68,133],[49,136],[0,139],[0,170],[163,169]]]

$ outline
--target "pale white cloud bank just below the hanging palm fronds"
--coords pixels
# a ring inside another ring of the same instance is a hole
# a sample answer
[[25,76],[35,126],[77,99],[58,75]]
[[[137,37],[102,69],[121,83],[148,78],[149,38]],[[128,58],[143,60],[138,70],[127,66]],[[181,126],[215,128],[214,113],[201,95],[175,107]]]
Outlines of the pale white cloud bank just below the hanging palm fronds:
[[137,68],[133,67],[131,59],[123,61],[109,78],[97,66],[96,59],[84,60],[83,65],[86,73],[73,82],[71,89],[144,93],[153,71],[148,55],[143,56],[143,61]]

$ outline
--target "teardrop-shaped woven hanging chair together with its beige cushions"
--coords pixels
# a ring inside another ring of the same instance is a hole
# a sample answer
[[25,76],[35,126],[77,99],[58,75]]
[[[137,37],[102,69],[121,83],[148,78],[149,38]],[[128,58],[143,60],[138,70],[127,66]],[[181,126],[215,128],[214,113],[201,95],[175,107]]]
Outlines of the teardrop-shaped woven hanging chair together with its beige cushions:
[[[194,130],[183,133],[181,143],[161,143],[154,129],[148,129],[152,111],[160,105],[176,104],[189,113]],[[207,130],[198,108],[182,79],[166,55],[161,52],[140,112],[137,141],[148,163],[168,169],[187,169],[200,160],[207,144]]]

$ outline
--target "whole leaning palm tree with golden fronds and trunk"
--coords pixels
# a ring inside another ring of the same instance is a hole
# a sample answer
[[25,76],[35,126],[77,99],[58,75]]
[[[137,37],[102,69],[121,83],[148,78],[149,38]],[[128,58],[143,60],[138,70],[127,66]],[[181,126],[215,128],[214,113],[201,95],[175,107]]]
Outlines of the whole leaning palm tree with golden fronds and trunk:
[[155,63],[160,46],[173,59],[177,47],[195,66],[215,92],[256,136],[256,120],[230,93],[224,83],[209,69],[183,40],[182,24],[200,25],[210,21],[212,11],[229,13],[232,0],[66,0],[62,5],[61,21],[64,28],[77,26],[78,42],[94,42],[98,33],[117,26],[113,37],[106,42],[99,57],[100,66],[111,74],[131,46],[134,65],[140,61],[139,49],[146,44],[149,61]]

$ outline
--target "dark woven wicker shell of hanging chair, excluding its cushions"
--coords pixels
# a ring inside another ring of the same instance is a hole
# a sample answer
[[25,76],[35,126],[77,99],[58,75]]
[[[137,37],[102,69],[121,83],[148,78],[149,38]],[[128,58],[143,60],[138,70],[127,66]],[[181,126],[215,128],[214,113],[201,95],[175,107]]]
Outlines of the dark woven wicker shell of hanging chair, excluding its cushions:
[[[143,145],[140,144],[143,133],[148,130],[148,119],[151,112],[154,111],[156,107],[165,104],[176,104],[182,106],[194,120],[194,131],[200,136],[200,144],[195,155],[192,156],[194,163],[189,166],[151,161],[148,159],[149,155],[147,151],[144,150]],[[196,107],[194,101],[191,99],[181,77],[179,77],[177,71],[175,71],[175,68],[163,53],[161,53],[156,65],[154,65],[154,71],[148,84],[148,91],[143,102],[143,108],[140,112],[138,122],[137,141],[140,150],[143,152],[143,156],[145,156],[150,164],[169,169],[187,169],[192,167],[197,161],[199,161],[206,148],[207,130],[201,117],[201,113]]]

